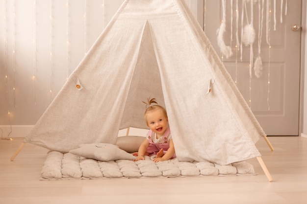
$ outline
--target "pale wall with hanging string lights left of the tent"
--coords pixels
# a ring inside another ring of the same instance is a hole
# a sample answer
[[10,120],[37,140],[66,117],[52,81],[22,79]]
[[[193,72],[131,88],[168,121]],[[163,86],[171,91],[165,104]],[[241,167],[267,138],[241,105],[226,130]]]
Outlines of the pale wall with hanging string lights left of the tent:
[[121,3],[5,0],[0,4],[1,125],[36,123]]

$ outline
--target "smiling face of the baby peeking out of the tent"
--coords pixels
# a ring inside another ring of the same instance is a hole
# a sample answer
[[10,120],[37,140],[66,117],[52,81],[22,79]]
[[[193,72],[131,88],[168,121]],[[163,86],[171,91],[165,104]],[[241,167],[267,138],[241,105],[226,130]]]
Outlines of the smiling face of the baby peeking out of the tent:
[[168,125],[168,118],[163,113],[162,110],[154,110],[147,113],[147,123],[148,127],[157,134],[157,136],[162,136]]

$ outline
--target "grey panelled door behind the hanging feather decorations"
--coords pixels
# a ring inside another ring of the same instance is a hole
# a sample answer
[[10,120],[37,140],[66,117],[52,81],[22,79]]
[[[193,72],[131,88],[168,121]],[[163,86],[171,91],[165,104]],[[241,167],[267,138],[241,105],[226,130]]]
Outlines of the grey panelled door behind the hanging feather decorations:
[[[236,82],[238,89],[250,105],[265,133],[269,136],[298,136],[301,34],[300,29],[295,31],[297,27],[294,26],[294,31],[291,28],[295,24],[301,25],[301,0],[276,0],[276,5],[274,0],[264,0],[263,15],[262,0],[257,0],[253,4],[253,15],[250,3],[253,0],[245,1],[246,9],[243,6],[243,27],[247,22],[253,22],[256,40],[253,43],[252,58],[251,46],[243,45],[242,61],[240,60],[240,50],[235,48],[237,30],[236,3],[238,2],[239,16],[238,38],[241,43],[241,15],[242,2],[244,1],[225,0],[226,31],[224,42],[226,45],[231,46],[233,52],[229,59],[226,59],[226,56],[221,53],[217,44],[217,29],[223,20],[223,1],[205,0],[205,33],[207,37],[221,56],[225,67],[230,72],[232,79]],[[252,74],[250,77],[250,62],[254,64],[256,57],[258,57],[259,1],[260,25],[263,16],[262,38],[260,38],[260,56],[262,58],[263,70],[262,75],[257,78],[253,69],[251,69]],[[281,2],[283,2],[282,6]],[[266,15],[267,3],[270,3],[271,8],[270,15],[268,15],[270,19]],[[285,9],[287,9],[286,15]],[[253,21],[251,21],[252,19]],[[266,22],[270,22],[270,29],[267,29]],[[230,40],[231,30],[232,41]],[[271,45],[270,48],[267,41]],[[251,59],[253,60],[251,61]]]

